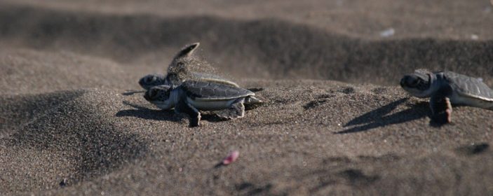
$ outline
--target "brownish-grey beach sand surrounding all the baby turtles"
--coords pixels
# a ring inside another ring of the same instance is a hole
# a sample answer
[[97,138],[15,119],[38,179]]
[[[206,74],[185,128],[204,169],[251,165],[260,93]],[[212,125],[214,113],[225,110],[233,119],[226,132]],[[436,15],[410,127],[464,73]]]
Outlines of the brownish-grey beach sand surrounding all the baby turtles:
[[[398,87],[493,86],[492,31],[488,1],[0,1],[0,195],[492,195],[493,111]],[[191,128],[132,93],[197,41],[266,104]]]

